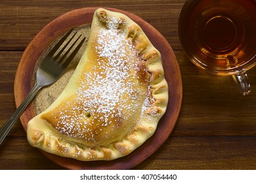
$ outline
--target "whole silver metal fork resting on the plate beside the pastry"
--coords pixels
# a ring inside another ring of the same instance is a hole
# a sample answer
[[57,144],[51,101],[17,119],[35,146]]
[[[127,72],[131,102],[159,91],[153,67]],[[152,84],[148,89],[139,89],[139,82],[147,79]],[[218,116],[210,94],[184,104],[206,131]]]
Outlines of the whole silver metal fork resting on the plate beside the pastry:
[[[72,59],[75,57],[79,48],[81,48],[83,42],[85,41],[85,38],[83,38],[79,42],[79,44],[77,43],[81,35],[79,35],[79,37],[72,43],[72,45],[67,48],[70,42],[74,39],[77,33],[75,32],[72,38],[60,49],[60,46],[62,46],[68,36],[71,35],[72,31],[74,31],[74,29],[68,31],[68,33],[66,33],[66,35],[64,35],[64,37],[62,37],[62,39],[60,39],[60,41],[58,41],[56,45],[49,51],[49,53],[47,54],[47,56],[45,56],[41,63],[39,63],[39,67],[36,73],[36,81],[31,92],[28,93],[28,96],[24,99],[24,101],[22,101],[20,106],[0,129],[0,144],[3,142],[3,140],[11,130],[12,126],[15,124],[16,120],[24,111],[24,109],[28,107],[28,104],[30,103],[30,101],[32,101],[33,97],[35,97],[36,93],[39,92],[39,90],[44,86],[49,86],[50,84],[56,82],[56,80],[60,78],[60,76],[64,73]],[[71,52],[72,48],[74,50]],[[68,50],[64,52],[65,49]],[[58,50],[60,51],[58,52]],[[61,56],[61,54],[63,55]],[[68,56],[68,54],[70,55]]]

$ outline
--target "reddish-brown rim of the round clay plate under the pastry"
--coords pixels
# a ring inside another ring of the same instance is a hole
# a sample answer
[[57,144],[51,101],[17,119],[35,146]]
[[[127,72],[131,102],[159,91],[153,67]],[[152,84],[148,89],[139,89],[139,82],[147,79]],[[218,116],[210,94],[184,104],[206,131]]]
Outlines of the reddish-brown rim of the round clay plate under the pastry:
[[[37,60],[43,54],[45,48],[51,42],[63,35],[70,27],[77,27],[84,24],[91,24],[93,14],[97,8],[81,8],[67,12],[59,16],[53,22],[46,25],[30,42],[18,65],[16,78],[14,82],[14,95],[16,106],[24,100],[26,95],[30,92],[33,85],[34,75],[33,71]],[[144,161],[152,155],[163,142],[171,134],[173,127],[177,122],[179,116],[181,101],[182,101],[182,81],[179,65],[175,54],[166,41],[152,25],[148,24],[139,16],[123,10],[114,8],[107,8],[116,12],[126,14],[133,21],[142,27],[144,33],[148,36],[152,44],[161,52],[163,67],[165,70],[165,78],[169,85],[169,103],[165,115],[161,118],[156,132],[150,139],[148,139],[142,146],[137,148],[134,152],[123,158],[115,159],[112,161],[78,161],[72,158],[63,158],[54,154],[49,154],[42,150],[41,153],[47,158],[51,159],[54,163],[65,167],[66,169],[131,169]],[[30,119],[35,116],[33,103],[24,111],[20,117],[20,121],[26,131],[27,124]]]

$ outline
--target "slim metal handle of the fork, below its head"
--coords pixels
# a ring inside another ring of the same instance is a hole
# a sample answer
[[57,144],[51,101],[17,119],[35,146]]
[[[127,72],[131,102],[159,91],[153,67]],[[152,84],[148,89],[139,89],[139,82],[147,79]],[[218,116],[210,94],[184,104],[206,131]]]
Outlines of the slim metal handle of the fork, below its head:
[[12,126],[15,124],[16,120],[20,117],[22,112],[25,110],[26,107],[30,104],[35,94],[42,88],[37,83],[33,86],[30,93],[28,93],[27,97],[22,101],[20,106],[15,110],[12,116],[5,122],[5,124],[0,129],[0,144],[3,142],[9,131],[11,130]]

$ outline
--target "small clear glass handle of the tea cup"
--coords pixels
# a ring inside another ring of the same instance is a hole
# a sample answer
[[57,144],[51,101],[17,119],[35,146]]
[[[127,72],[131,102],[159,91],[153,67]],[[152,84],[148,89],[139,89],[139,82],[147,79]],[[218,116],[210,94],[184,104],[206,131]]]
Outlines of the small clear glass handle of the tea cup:
[[249,95],[251,92],[251,84],[245,70],[238,71],[238,73],[236,75],[232,75],[232,77],[242,95]]

